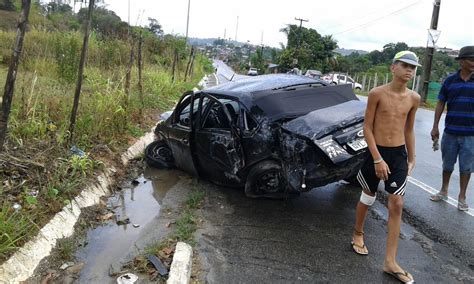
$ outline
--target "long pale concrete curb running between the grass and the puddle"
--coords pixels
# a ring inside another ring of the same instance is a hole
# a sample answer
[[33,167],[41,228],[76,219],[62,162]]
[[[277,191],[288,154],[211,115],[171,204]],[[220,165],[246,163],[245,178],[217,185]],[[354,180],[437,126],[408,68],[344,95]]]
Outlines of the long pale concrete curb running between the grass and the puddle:
[[[154,139],[153,132],[147,133],[122,154],[124,165],[143,153],[146,145]],[[0,283],[19,283],[33,276],[40,261],[49,256],[59,239],[72,236],[74,225],[82,209],[99,203],[100,197],[109,195],[113,182],[114,167],[97,177],[97,183],[84,189],[69,205],[57,213],[35,236],[0,266]]]

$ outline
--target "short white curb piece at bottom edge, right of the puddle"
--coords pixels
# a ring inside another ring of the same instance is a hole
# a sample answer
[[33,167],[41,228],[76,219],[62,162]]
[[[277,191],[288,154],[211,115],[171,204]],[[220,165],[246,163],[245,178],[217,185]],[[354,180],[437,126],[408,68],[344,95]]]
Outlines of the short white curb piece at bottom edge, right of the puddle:
[[190,245],[178,242],[171,263],[167,284],[187,284],[191,278],[193,249]]

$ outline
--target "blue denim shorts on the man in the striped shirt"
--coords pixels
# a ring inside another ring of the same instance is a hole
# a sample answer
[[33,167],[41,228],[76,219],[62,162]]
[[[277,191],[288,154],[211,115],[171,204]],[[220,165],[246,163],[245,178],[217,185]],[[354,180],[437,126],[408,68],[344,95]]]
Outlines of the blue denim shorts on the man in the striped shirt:
[[441,138],[443,171],[452,172],[459,156],[459,173],[474,172],[474,136],[452,135],[444,132]]

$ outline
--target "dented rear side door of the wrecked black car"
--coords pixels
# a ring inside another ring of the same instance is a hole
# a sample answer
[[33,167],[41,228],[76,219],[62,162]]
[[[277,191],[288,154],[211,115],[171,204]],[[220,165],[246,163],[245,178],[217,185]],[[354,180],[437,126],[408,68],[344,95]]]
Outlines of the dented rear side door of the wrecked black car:
[[[244,165],[237,125],[239,104],[225,98],[202,95],[200,123],[196,127],[195,143],[199,168],[218,183],[237,181],[237,172]],[[236,109],[237,108],[237,109]]]

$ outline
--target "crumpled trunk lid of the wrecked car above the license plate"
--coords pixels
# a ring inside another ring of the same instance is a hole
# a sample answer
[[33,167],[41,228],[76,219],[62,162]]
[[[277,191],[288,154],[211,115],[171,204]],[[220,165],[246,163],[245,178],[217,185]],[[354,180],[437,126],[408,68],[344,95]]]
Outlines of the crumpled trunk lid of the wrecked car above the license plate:
[[312,111],[284,123],[282,128],[298,136],[316,141],[336,129],[363,121],[365,108],[365,103],[352,100]]

